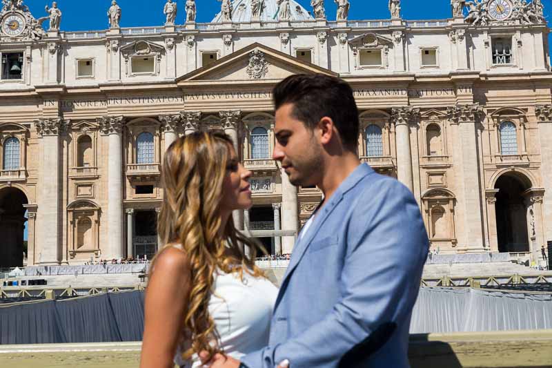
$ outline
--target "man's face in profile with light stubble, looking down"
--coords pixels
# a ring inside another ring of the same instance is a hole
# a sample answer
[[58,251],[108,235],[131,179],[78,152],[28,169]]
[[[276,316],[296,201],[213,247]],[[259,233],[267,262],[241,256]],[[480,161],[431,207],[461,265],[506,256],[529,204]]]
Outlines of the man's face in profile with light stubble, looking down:
[[293,104],[276,110],[273,159],[282,163],[291,184],[313,186],[322,177],[322,144],[318,129],[309,130],[293,116]]

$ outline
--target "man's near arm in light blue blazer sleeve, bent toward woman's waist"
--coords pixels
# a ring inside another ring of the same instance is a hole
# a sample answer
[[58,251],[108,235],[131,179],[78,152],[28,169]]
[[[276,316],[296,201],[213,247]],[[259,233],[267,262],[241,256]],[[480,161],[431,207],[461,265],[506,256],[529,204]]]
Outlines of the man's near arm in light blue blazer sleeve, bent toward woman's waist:
[[379,180],[364,191],[349,221],[342,300],[299,336],[242,358],[245,365],[274,368],[288,359],[293,368],[337,366],[382,325],[406,322],[428,250],[412,193],[397,182]]

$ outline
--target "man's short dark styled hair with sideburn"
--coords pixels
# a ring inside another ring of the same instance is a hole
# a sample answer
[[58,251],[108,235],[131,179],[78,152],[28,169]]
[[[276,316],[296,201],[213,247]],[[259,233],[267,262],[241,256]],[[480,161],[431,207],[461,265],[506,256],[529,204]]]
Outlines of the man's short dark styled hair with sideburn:
[[343,79],[322,74],[292,75],[273,91],[276,110],[293,104],[293,117],[313,130],[322,117],[331,117],[344,146],[356,152],[358,108],[353,89]]

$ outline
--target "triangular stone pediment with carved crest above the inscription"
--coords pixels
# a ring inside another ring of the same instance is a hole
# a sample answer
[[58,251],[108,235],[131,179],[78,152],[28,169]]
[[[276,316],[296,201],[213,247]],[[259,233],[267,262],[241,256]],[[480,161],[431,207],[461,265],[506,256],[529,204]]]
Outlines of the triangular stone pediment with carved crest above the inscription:
[[213,64],[177,78],[177,83],[179,85],[195,84],[201,81],[263,83],[266,81],[281,81],[290,75],[302,73],[321,73],[337,76],[337,73],[331,70],[306,63],[260,43],[253,43],[215,61]]

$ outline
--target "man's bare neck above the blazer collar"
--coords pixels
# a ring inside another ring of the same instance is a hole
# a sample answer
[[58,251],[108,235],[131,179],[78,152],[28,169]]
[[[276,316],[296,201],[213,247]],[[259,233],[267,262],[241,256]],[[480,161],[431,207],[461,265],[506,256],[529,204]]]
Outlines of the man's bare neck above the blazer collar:
[[322,193],[324,193],[324,204],[337,191],[342,182],[355,171],[359,164],[360,159],[351,152],[328,159],[328,162],[324,165],[322,182],[318,185]]

